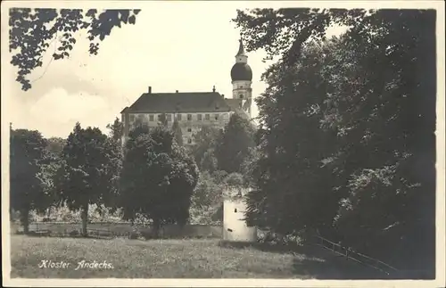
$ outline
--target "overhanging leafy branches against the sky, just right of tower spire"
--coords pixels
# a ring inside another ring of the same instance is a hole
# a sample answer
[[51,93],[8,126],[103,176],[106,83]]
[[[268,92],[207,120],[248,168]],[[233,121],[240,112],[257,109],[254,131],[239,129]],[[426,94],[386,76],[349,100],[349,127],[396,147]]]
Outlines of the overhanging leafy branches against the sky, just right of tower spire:
[[252,9],[237,10],[232,21],[242,30],[248,52],[265,49],[267,59],[282,56],[285,65],[293,65],[310,39],[325,40],[326,29],[333,24],[365,29],[367,14],[365,9]]

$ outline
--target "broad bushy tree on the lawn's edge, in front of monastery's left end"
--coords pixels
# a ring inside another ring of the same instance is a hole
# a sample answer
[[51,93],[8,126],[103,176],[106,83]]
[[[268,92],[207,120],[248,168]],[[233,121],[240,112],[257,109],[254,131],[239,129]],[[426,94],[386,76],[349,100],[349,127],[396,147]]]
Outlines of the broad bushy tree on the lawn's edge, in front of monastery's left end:
[[140,128],[127,142],[120,178],[124,217],[153,221],[155,235],[167,223],[186,224],[198,169],[169,128]]

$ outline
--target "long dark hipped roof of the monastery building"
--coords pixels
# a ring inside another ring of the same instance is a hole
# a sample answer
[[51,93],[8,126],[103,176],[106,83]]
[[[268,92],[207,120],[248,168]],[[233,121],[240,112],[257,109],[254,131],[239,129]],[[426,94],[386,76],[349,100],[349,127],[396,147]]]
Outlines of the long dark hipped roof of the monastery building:
[[[127,109],[137,112],[216,112],[231,111],[218,92],[145,93]],[[123,111],[124,112],[124,111]]]

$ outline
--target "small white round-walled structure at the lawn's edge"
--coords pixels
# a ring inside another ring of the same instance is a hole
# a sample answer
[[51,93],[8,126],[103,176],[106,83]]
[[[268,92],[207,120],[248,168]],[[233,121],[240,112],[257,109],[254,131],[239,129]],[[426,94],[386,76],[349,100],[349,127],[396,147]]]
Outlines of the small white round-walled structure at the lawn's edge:
[[247,189],[227,188],[223,196],[223,241],[256,242],[257,227],[247,226],[244,220]]

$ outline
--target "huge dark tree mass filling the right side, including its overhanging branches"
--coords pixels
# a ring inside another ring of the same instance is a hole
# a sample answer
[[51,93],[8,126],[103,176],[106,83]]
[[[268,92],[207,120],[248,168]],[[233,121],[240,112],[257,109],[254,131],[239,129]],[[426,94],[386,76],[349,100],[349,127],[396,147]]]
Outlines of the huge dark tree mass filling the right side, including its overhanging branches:
[[[249,50],[282,56],[258,101],[251,218],[382,257],[417,247],[432,264],[435,12],[255,10],[235,21]],[[354,25],[317,41],[333,23]]]

